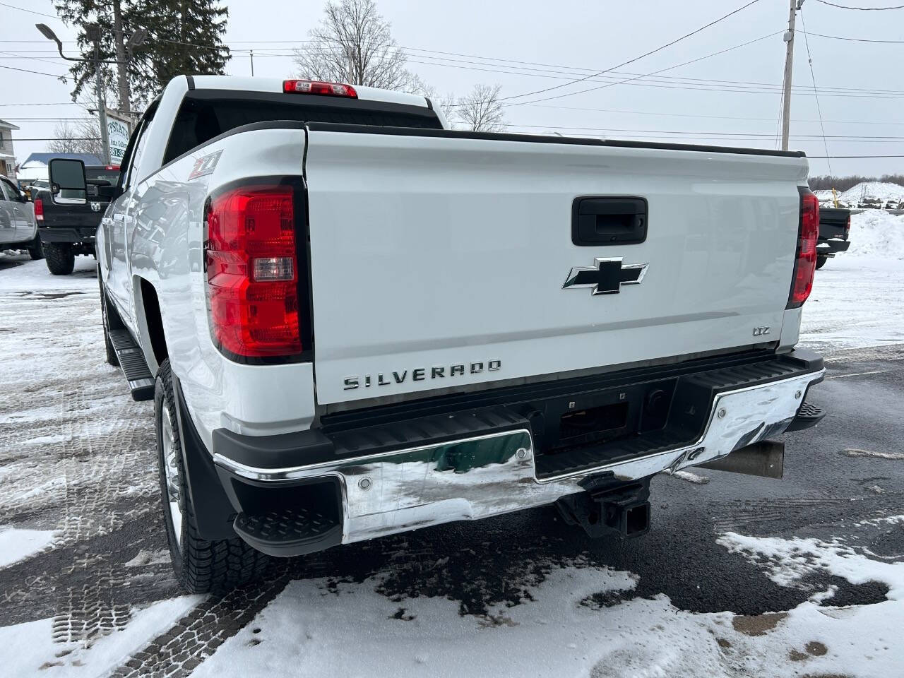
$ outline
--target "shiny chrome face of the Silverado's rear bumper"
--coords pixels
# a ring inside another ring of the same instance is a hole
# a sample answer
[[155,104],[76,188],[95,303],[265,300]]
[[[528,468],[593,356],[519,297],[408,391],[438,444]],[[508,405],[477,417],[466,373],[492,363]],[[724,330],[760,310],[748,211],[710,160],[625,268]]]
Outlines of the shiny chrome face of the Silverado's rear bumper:
[[823,375],[821,369],[720,392],[702,436],[691,445],[560,476],[538,478],[526,427],[307,466],[261,468],[222,454],[214,454],[213,461],[225,474],[258,486],[336,479],[342,541],[349,543],[551,504],[583,491],[581,481],[588,476],[610,474],[628,481],[724,457],[784,432],[807,388]]

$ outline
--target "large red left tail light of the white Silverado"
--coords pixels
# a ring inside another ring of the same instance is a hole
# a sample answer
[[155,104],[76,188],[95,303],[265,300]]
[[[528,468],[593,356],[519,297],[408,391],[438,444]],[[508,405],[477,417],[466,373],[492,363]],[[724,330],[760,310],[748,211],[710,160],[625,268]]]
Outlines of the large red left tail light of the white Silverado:
[[245,185],[212,196],[206,265],[212,334],[223,353],[301,353],[292,186]]

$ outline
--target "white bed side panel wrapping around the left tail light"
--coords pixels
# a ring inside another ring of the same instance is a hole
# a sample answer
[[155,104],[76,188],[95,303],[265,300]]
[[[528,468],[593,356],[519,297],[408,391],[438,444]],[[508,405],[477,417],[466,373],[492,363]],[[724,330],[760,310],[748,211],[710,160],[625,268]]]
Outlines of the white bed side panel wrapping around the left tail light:
[[[133,285],[140,289],[137,278],[145,278],[155,287],[170,363],[208,446],[214,428],[264,435],[308,428],[314,419],[310,363],[243,365],[216,350],[203,262],[207,196],[236,180],[300,176],[304,146],[301,129],[241,132],[195,149],[137,186],[127,243]],[[189,178],[197,159],[218,152],[212,174]]]

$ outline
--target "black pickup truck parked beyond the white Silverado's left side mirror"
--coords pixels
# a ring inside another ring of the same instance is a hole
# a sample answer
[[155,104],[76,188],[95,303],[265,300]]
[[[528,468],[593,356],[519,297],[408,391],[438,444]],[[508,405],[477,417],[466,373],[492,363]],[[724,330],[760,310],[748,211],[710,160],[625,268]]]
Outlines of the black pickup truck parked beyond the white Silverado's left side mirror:
[[33,195],[44,258],[54,276],[68,276],[75,268],[76,255],[95,254],[94,239],[119,180],[119,167],[88,166],[85,178],[87,195],[70,195],[72,192],[54,185]]

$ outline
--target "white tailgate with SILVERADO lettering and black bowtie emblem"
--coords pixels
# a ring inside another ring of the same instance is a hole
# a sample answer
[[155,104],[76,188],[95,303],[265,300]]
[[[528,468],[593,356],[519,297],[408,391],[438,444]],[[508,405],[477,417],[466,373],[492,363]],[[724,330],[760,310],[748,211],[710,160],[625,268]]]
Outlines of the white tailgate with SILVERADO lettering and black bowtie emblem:
[[[804,158],[368,129],[307,135],[318,402],[777,340]],[[575,244],[625,196],[644,241]]]

